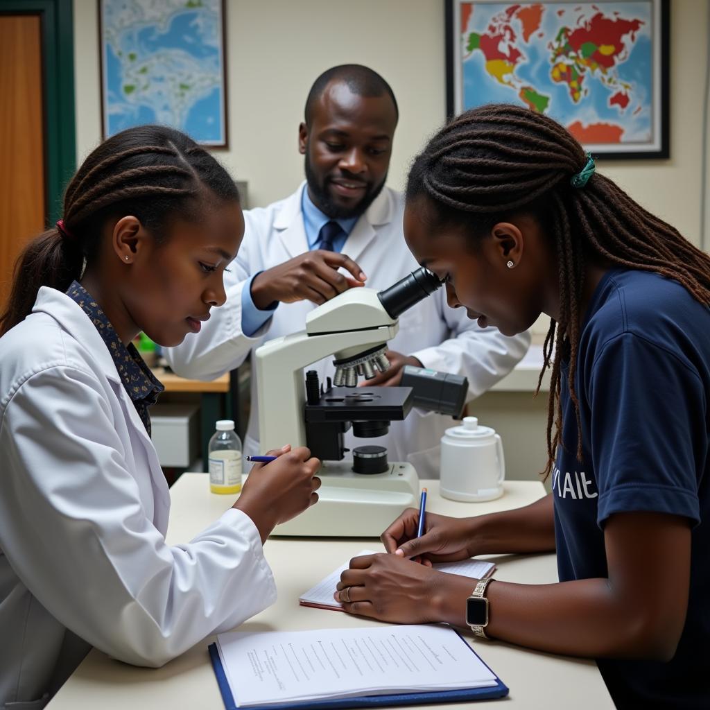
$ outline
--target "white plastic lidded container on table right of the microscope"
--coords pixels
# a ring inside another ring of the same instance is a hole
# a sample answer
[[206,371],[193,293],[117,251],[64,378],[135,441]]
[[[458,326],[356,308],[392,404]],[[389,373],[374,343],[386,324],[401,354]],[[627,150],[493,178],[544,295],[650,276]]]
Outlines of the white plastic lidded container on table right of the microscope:
[[476,417],[464,417],[446,430],[441,443],[441,484],[452,501],[493,501],[503,495],[506,463],[501,437],[482,427]]

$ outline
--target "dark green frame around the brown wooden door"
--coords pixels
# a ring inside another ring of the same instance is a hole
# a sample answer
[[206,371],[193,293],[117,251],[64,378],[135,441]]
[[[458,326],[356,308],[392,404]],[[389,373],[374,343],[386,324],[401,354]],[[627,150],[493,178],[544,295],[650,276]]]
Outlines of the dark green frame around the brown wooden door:
[[64,188],[77,165],[72,0],[0,0],[0,14],[40,16],[42,41],[45,219],[62,216]]

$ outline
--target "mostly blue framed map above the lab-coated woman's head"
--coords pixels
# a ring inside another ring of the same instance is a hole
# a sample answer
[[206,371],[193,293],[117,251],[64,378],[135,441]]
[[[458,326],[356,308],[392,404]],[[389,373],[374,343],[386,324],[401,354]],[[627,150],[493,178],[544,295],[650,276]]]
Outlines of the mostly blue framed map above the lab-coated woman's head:
[[104,138],[165,124],[227,145],[223,0],[98,0]]

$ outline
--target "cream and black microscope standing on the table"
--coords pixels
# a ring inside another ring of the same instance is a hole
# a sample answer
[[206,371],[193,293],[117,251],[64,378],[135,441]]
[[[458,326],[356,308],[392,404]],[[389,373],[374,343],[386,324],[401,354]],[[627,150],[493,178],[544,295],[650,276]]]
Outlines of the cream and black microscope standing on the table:
[[[380,292],[352,288],[312,310],[305,331],[256,350],[261,450],[288,442],[309,447],[322,460],[318,503],[278,525],[274,535],[378,536],[405,508],[418,505],[420,484],[411,464],[388,461],[381,446],[356,447],[352,460],[344,461],[344,433],[352,427],[356,437],[385,435],[413,405],[454,415],[463,410],[466,378],[425,368],[405,368],[403,386],[356,386],[359,376],[369,379],[389,368],[385,353],[398,333],[398,317],[441,285],[420,268]],[[304,382],[304,368],[327,356],[334,356],[333,381],[321,383],[312,370]]]

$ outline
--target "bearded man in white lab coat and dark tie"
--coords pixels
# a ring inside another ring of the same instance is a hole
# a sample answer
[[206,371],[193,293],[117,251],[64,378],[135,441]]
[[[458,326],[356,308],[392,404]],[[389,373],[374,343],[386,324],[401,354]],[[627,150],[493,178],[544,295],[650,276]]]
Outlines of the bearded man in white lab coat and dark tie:
[[[342,65],[318,77],[299,126],[307,180],[285,200],[244,213],[244,241],[225,274],[226,304],[200,334],[167,353],[178,374],[215,378],[266,340],[304,329],[315,305],[346,288],[364,282],[381,290],[418,268],[403,236],[403,196],[385,186],[397,121],[392,89],[376,72]],[[413,364],[465,375],[474,398],[530,344],[528,334],[504,337],[449,308],[444,289],[399,322],[388,344],[391,368],[368,385],[397,385],[403,366]],[[334,375],[332,358],[311,368],[321,381]],[[408,461],[420,477],[438,478],[439,439],[452,425],[451,417],[415,409],[392,422],[388,435],[353,439],[349,432],[345,445],[386,446],[391,461]],[[244,452],[259,452],[255,378]]]

